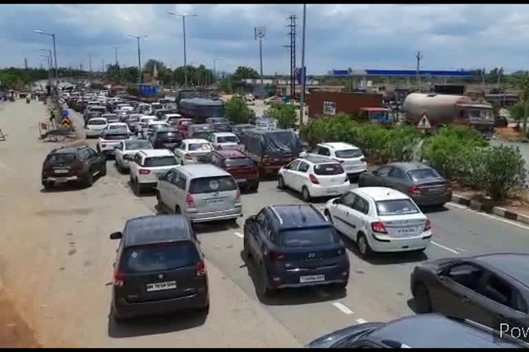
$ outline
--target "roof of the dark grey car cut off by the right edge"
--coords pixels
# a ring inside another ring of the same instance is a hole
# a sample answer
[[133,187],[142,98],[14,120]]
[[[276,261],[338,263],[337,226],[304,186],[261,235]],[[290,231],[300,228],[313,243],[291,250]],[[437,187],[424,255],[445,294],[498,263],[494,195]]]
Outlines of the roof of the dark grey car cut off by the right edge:
[[529,287],[529,254],[491,253],[473,257],[474,261],[494,267]]

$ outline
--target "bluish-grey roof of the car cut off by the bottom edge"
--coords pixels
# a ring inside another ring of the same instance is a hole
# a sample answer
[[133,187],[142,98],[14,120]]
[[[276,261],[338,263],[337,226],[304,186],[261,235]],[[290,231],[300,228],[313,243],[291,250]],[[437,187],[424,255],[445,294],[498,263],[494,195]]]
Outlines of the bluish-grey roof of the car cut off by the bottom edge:
[[369,333],[369,339],[393,340],[412,348],[521,347],[521,344],[501,339],[474,322],[441,314],[419,314],[392,320]]

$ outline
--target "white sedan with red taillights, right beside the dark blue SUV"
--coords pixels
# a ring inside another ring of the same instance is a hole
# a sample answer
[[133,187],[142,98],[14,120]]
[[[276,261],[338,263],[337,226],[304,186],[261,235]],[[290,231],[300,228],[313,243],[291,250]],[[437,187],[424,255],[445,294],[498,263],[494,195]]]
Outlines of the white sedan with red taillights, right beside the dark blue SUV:
[[430,220],[404,193],[360,187],[326,203],[325,215],[357,243],[362,257],[373,252],[423,251],[430,244]]

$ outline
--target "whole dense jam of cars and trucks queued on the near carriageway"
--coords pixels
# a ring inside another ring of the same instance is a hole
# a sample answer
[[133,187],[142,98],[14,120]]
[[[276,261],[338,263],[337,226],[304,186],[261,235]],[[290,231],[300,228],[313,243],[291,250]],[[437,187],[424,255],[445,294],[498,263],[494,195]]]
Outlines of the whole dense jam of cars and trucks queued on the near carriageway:
[[[184,309],[208,314],[199,224],[240,225],[241,256],[256,268],[252,281],[262,297],[307,287],[346,294],[351,255],[367,261],[422,253],[435,241],[425,209],[450,202],[452,189],[434,168],[418,162],[371,168],[357,146],[308,146],[270,118],[233,124],[218,97],[197,94],[180,91],[152,103],[106,91],[63,95],[82,113],[87,143],[54,148],[43,162],[43,187],[90,187],[113,161],[136,197],[156,198],[158,214],[108,229],[116,240],[110,317],[116,323]],[[293,201],[249,214],[241,195],[258,199],[263,180],[288,190]],[[499,321],[526,325],[529,282],[519,268],[528,259],[490,253],[419,263],[408,283],[417,315],[344,326],[306,347],[526,347],[501,334]]]

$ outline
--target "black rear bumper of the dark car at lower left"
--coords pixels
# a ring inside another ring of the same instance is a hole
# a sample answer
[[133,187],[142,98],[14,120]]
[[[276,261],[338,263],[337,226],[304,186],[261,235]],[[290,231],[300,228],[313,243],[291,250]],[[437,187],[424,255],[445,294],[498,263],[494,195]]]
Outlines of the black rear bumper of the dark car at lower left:
[[205,289],[189,296],[158,300],[144,303],[128,303],[125,298],[114,299],[114,312],[119,318],[134,318],[138,316],[152,316],[167,314],[183,309],[200,309],[209,304],[209,297]]

